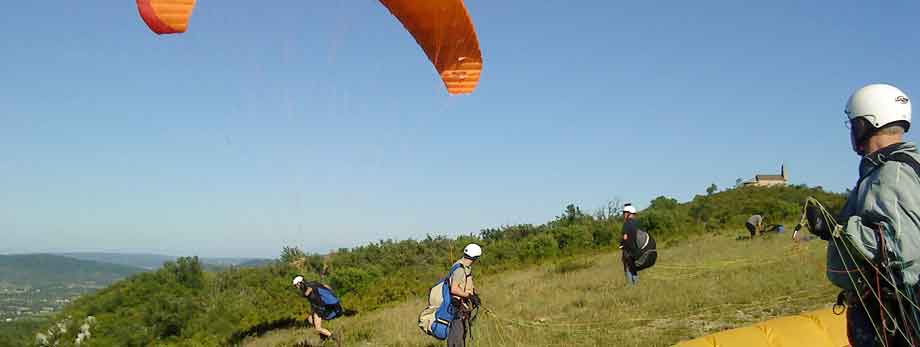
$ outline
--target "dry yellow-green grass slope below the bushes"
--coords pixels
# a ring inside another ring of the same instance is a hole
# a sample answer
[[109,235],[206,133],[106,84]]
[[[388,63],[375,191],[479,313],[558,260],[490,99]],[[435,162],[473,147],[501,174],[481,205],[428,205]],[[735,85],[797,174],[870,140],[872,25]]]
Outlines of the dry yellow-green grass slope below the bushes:
[[[669,346],[828,307],[836,290],[824,276],[825,245],[793,243],[791,233],[742,241],[735,235],[693,237],[662,246],[638,287],[626,286],[617,250],[480,278],[488,312],[476,322],[473,343]],[[326,325],[342,333],[347,346],[441,346],[417,327],[422,294]],[[319,344],[309,331],[289,329],[243,346],[294,346],[304,339]]]

